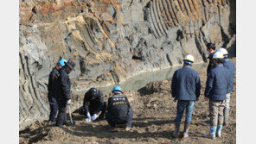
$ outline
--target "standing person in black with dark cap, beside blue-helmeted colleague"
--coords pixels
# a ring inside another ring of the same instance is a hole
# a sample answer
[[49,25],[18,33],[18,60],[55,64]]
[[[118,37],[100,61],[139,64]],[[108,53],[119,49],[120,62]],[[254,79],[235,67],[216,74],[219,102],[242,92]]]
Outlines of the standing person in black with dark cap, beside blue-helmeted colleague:
[[58,116],[56,121],[56,126],[62,127],[63,124],[67,125],[67,104],[71,104],[70,99],[70,89],[71,82],[68,74],[74,70],[75,63],[72,60],[65,62],[65,66],[60,69],[59,87],[56,89],[57,103],[58,103]]

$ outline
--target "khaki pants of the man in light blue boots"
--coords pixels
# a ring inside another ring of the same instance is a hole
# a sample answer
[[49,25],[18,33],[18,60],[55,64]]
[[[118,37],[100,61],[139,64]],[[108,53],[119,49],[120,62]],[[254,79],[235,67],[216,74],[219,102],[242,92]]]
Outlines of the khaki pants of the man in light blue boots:
[[210,100],[209,101],[210,124],[212,127],[216,127],[217,125],[223,124],[224,107],[225,107],[225,100],[223,100],[223,101]]

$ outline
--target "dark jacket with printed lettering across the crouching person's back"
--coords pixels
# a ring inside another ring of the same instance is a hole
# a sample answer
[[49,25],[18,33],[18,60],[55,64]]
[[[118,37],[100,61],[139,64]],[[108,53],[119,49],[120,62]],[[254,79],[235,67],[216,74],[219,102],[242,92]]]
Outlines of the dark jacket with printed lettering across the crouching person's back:
[[129,109],[130,103],[127,97],[118,94],[108,98],[107,110],[113,119],[126,120]]

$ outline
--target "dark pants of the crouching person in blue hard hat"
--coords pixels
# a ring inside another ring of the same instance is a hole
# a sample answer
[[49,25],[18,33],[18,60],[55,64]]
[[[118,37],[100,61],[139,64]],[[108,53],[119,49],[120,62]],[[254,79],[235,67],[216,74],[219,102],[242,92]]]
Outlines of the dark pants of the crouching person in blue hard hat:
[[106,113],[106,121],[112,128],[116,127],[116,124],[125,124],[125,123],[126,123],[126,127],[131,128],[132,117],[133,117],[133,110],[131,108],[128,110],[127,117],[124,120],[115,119],[110,115],[109,112]]

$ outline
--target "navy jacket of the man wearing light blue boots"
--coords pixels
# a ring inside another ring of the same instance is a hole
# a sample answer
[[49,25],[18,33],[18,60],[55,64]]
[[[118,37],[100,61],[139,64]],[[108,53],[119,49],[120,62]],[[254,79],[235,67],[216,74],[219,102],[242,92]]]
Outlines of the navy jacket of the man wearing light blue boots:
[[225,100],[230,85],[230,72],[222,64],[218,64],[208,73],[204,96],[212,100]]

